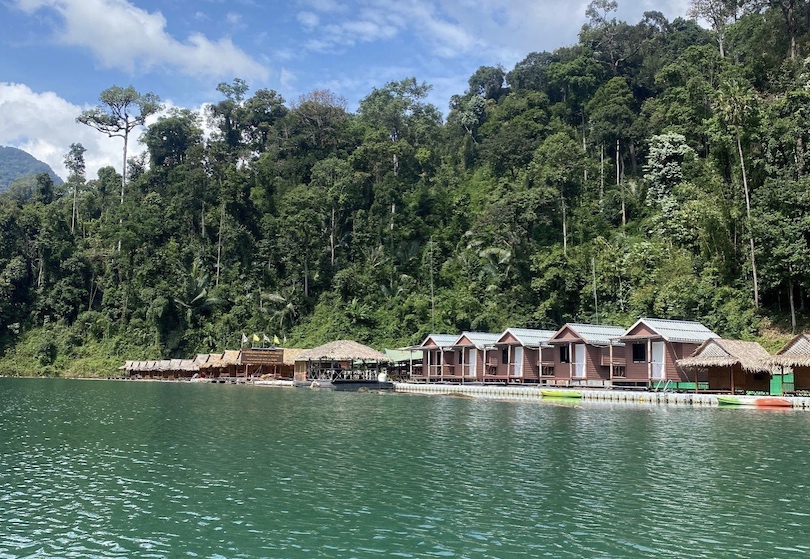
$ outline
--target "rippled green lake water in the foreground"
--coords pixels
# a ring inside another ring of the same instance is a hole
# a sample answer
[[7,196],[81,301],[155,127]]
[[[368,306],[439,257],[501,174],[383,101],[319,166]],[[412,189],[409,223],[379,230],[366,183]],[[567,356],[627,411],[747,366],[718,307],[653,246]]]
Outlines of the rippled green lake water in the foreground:
[[0,379],[0,558],[793,557],[810,413]]

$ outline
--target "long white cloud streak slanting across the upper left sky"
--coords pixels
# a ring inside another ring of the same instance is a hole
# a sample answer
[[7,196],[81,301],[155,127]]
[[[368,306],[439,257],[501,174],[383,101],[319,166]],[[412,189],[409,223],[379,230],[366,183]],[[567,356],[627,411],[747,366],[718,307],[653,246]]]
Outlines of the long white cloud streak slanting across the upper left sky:
[[147,12],[127,0],[17,0],[17,6],[29,13],[43,8],[58,12],[64,18],[59,40],[90,49],[105,68],[262,80],[269,74],[230,39],[212,41],[196,33],[178,41],[167,32],[160,12]]

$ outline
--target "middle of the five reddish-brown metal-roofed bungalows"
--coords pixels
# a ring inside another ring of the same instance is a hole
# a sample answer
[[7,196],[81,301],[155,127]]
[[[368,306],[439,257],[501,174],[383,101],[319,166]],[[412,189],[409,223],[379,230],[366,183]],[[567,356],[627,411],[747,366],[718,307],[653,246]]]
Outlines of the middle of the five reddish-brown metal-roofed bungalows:
[[554,330],[509,328],[493,344],[496,363],[485,381],[540,382],[541,375],[554,374],[554,348],[548,340]]

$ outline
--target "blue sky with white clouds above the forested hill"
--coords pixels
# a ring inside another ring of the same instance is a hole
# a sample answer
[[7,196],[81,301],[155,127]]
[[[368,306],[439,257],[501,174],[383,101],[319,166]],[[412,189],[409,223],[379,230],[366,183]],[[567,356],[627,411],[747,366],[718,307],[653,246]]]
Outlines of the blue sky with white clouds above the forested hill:
[[[617,17],[683,16],[689,0],[619,0]],[[443,113],[480,66],[506,71],[531,52],[577,41],[579,0],[0,0],[0,145],[23,149],[62,178],[70,144],[88,178],[121,169],[122,141],[76,123],[113,85],[167,107],[217,102],[220,82],[287,101],[317,89],[349,109],[387,83],[432,86]],[[250,92],[248,93],[250,95]],[[130,154],[143,150],[139,131]]]

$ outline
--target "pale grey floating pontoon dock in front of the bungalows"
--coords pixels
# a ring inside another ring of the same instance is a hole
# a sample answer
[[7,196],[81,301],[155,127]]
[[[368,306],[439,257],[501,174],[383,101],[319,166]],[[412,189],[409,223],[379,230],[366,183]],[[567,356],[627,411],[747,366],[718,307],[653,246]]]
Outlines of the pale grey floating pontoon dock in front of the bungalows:
[[[638,390],[596,390],[596,389],[566,389],[554,388],[553,393],[550,392],[548,387],[541,386],[527,386],[527,385],[489,385],[489,384],[425,384],[413,382],[396,382],[394,383],[394,390],[396,392],[406,392],[413,394],[435,394],[446,396],[468,396],[472,398],[489,398],[495,400],[540,400],[545,399],[548,401],[559,401],[563,399],[560,393],[571,390],[579,394],[579,398],[571,398],[571,400],[579,402],[601,402],[601,403],[625,403],[625,404],[650,404],[650,405],[672,405],[672,406],[718,406],[720,405],[719,398],[722,395],[718,394],[701,394],[694,392],[650,392]],[[552,394],[543,395],[543,392]],[[763,404],[772,396],[746,396],[747,402],[750,405],[762,409],[763,405],[757,405],[758,399],[763,400]],[[810,410],[810,398],[802,396],[784,396],[780,397],[780,406],[784,407],[783,402],[788,401],[790,407],[799,409]]]

